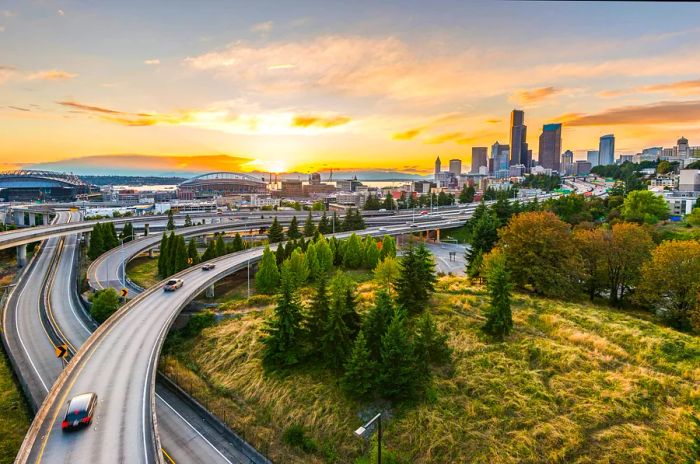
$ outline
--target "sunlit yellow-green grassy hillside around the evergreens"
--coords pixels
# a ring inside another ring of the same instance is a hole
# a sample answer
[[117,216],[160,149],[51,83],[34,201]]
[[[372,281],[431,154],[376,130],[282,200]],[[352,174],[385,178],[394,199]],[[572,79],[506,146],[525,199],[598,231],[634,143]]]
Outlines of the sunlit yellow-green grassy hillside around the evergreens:
[[[364,307],[373,285],[360,286]],[[440,279],[432,311],[453,363],[418,404],[359,404],[313,366],[265,376],[258,337],[269,307],[169,343],[177,350],[164,364],[276,462],[353,462],[366,446],[352,431],[377,408],[389,412],[385,442],[402,462],[700,459],[698,337],[607,307],[516,295],[514,333],[495,343],[480,331],[486,304],[483,288]],[[295,424],[311,452],[282,439]]]

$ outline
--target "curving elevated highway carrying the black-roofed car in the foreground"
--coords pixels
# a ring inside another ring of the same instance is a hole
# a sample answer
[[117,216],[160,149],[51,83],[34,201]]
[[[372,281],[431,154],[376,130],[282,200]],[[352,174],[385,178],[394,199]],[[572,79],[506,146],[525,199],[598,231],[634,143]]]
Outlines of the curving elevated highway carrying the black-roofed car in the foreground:
[[[431,221],[417,227],[357,233],[397,235],[459,224]],[[123,306],[97,329],[62,372],[32,423],[18,462],[159,462],[154,379],[165,335],[180,310],[196,295],[258,260],[261,254],[262,248],[254,248],[217,258],[213,260],[217,267],[210,272],[199,267],[187,269],[179,274],[186,282],[179,291],[163,292],[161,282]],[[93,426],[83,433],[61,433],[65,401],[86,391],[100,397]]]

